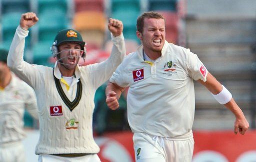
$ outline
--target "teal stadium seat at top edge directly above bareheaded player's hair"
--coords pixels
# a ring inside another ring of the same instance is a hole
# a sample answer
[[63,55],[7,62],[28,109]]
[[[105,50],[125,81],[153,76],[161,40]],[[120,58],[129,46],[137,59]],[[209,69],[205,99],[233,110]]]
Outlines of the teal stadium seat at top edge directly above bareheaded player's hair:
[[177,0],[148,0],[148,10],[176,11]]

